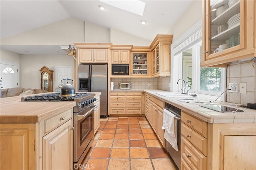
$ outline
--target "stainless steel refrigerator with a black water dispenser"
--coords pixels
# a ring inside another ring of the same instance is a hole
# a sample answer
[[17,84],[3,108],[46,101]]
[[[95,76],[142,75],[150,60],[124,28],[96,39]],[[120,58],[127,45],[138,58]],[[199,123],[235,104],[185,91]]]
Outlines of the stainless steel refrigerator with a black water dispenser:
[[107,64],[79,64],[78,92],[101,92],[100,118],[108,117],[108,67]]

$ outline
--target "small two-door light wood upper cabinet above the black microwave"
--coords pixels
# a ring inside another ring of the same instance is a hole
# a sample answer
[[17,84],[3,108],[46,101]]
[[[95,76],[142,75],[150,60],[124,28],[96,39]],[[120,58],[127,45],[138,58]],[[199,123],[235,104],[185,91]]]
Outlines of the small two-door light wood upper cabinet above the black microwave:
[[130,50],[132,45],[112,45],[111,64],[130,64]]

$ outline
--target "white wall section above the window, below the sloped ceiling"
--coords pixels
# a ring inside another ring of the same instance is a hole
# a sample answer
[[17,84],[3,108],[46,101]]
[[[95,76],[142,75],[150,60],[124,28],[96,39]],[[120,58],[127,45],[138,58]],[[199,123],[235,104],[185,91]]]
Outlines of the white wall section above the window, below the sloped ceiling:
[[179,18],[170,31],[168,31],[168,34],[173,34],[172,42],[178,39],[201,19],[202,1],[194,0],[188,10],[186,10],[186,12]]

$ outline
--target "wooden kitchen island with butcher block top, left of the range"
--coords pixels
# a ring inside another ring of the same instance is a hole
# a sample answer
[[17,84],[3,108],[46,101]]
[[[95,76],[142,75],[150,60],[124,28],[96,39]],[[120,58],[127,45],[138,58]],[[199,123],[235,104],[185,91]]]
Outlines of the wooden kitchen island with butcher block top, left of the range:
[[26,96],[0,98],[0,169],[73,169],[76,102],[21,102]]

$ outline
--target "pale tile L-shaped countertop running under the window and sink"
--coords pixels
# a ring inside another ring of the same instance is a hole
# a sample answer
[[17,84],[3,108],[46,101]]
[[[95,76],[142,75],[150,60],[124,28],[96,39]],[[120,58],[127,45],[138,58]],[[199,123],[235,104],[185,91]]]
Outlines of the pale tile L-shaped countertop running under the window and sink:
[[[168,92],[168,91],[158,90],[158,89],[110,90],[110,92],[147,92],[148,94],[151,94],[155,98],[158,98],[163,102],[172,104],[173,106],[176,106],[182,109],[183,111],[186,111],[187,113],[190,113],[191,115],[194,115],[195,117],[198,117],[208,123],[256,123],[256,110],[243,108],[243,107],[230,106],[231,103],[228,103],[228,102],[216,101],[213,104],[221,104],[222,106],[241,109],[241,110],[244,110],[244,112],[233,113],[233,112],[213,111],[211,109],[207,109],[205,107],[200,106],[204,103],[186,103],[186,102],[178,101],[179,99],[184,99],[183,97],[175,97],[175,98],[164,97],[157,93]],[[209,101],[209,100],[214,101],[216,98],[218,98],[218,96],[208,96],[204,94],[197,94],[197,97],[192,97],[192,96],[188,96],[188,97],[205,100],[205,101]],[[210,104],[210,102],[205,102],[205,103]]]

